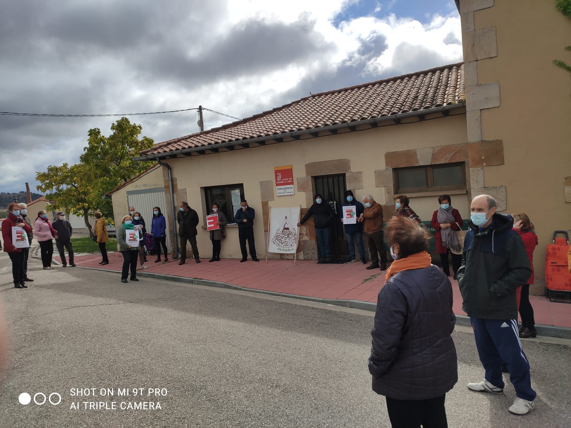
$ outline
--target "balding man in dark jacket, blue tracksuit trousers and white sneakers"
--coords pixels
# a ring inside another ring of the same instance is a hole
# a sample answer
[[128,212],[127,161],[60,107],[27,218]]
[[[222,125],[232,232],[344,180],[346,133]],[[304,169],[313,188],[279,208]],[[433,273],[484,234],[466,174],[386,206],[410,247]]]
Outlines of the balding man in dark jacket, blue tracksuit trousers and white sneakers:
[[472,200],[464,261],[457,273],[462,309],[470,317],[485,369],[484,381],[468,383],[468,388],[503,394],[503,360],[517,397],[509,411],[524,415],[534,408],[536,391],[519,338],[516,290],[526,284],[532,269],[524,242],[512,229],[513,218],[496,211],[492,196]]

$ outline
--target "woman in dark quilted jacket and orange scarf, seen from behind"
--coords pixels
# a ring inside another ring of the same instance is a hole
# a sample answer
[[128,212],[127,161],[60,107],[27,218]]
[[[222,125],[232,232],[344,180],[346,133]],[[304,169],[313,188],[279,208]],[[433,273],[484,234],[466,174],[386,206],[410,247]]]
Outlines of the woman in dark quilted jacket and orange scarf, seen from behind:
[[379,292],[369,373],[393,427],[448,426],[446,393],[458,381],[452,284],[432,264],[429,232],[393,216],[385,238],[395,261]]

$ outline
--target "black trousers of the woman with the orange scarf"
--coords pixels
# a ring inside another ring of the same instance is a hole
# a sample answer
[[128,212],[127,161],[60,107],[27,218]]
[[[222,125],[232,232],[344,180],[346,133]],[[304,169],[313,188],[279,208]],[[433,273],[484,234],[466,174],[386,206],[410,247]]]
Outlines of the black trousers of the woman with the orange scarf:
[[448,428],[442,397],[426,400],[397,400],[387,397],[392,428]]

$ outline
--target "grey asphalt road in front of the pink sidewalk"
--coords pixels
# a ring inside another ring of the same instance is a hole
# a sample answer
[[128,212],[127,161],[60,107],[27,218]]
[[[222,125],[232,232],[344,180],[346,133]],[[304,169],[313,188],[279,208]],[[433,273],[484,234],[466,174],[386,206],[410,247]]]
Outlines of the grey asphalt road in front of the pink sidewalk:
[[[371,313],[148,278],[121,284],[118,274],[42,270],[37,260],[29,276],[29,289],[13,288],[0,253],[1,427],[390,426],[367,370]],[[453,337],[460,380],[447,395],[450,427],[571,426],[571,341],[525,341],[538,398],[516,416],[509,382],[505,395],[467,389],[483,370],[470,329]],[[19,403],[21,393],[31,403]],[[37,405],[37,393],[59,393],[61,403]],[[143,402],[161,409],[121,409]]]

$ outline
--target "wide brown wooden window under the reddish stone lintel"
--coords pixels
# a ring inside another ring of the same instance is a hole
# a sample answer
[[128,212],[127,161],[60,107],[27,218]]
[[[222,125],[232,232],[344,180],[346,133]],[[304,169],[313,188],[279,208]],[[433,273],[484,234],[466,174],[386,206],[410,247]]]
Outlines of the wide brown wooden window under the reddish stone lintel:
[[394,169],[396,193],[466,188],[465,163]]

